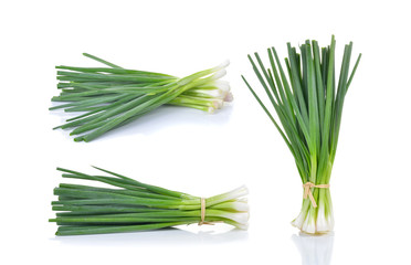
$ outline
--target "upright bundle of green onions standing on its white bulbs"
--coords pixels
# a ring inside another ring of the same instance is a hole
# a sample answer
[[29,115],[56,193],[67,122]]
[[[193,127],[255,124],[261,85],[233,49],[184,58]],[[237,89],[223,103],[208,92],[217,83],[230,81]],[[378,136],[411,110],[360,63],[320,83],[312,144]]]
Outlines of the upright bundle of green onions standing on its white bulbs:
[[271,68],[264,66],[257,53],[256,63],[249,55],[253,70],[277,114],[277,119],[244,76],[242,78],[293,153],[303,181],[303,205],[293,225],[305,233],[327,233],[334,227],[328,188],[337,150],[344,99],[361,54],[350,72],[352,43],[345,45],[337,77],[334,36],[330,45],[322,49],[317,41],[309,40],[299,46],[299,53],[289,43],[287,47],[285,71],[274,47],[267,50]]

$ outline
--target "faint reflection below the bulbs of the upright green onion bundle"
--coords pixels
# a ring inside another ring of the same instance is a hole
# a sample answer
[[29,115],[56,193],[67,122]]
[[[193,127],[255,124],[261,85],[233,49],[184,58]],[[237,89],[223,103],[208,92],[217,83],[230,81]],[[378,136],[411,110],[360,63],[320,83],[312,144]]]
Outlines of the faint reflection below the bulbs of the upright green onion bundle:
[[302,256],[303,265],[330,265],[334,233],[325,235],[293,235],[293,241]]

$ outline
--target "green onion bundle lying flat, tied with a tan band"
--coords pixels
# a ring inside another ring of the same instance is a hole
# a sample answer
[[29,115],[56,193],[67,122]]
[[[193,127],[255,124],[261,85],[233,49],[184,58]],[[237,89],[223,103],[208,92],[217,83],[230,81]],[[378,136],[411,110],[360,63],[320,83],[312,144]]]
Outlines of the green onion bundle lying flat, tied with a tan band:
[[135,232],[214,222],[242,230],[247,227],[245,187],[204,199],[96,169],[109,176],[57,168],[64,178],[98,181],[112,187],[61,183],[55,188],[59,200],[53,201],[52,206],[57,213],[49,221],[59,225],[56,235]]

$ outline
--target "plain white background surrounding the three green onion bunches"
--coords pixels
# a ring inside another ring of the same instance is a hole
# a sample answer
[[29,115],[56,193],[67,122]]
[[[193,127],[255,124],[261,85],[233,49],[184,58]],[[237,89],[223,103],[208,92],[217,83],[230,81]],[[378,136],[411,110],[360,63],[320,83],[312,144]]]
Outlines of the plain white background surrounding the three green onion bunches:
[[[282,138],[242,83],[247,53],[316,39],[354,41],[362,61],[346,98],[331,177],[331,264],[410,264],[410,51],[407,1],[3,1],[0,4],[1,264],[302,264],[324,244],[291,226],[301,180]],[[88,52],[125,67],[188,75],[225,59],[234,102],[214,115],[165,107],[89,142],[51,128],[59,64]],[[260,92],[262,92],[259,88]],[[55,167],[107,168],[213,195],[250,188],[249,231],[55,237]],[[297,243],[296,243],[297,242]],[[305,255],[305,254],[304,254]],[[323,255],[323,254],[322,254]],[[319,257],[322,258],[322,257]],[[318,263],[326,264],[326,263]]]

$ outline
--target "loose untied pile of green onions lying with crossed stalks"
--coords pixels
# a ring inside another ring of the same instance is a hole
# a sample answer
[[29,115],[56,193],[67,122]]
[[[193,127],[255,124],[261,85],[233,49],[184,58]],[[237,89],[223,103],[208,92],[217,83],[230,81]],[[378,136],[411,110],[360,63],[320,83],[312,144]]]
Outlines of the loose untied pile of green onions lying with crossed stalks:
[[230,86],[220,78],[225,62],[183,78],[146,71],[128,70],[84,53],[109,67],[56,66],[59,96],[52,102],[81,114],[54,129],[72,129],[75,141],[91,141],[108,130],[126,125],[165,104],[213,113],[232,100]]

